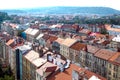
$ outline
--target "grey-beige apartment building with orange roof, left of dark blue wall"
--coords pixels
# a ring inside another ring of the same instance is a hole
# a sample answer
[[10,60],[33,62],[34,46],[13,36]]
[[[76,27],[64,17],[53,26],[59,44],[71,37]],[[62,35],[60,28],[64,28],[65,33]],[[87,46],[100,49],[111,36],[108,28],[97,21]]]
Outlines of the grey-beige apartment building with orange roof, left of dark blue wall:
[[16,50],[17,47],[22,46],[24,40],[19,37],[14,37],[6,43],[6,57],[8,58],[8,65],[10,66],[15,78],[17,78],[17,61],[16,59]]

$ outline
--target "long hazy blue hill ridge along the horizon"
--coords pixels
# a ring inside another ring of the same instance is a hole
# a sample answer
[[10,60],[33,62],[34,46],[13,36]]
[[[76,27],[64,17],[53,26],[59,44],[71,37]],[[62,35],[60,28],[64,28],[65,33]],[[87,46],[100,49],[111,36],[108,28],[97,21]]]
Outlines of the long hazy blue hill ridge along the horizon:
[[111,15],[120,14],[119,10],[108,7],[41,7],[30,9],[11,9],[0,10],[8,14],[98,14],[98,15]]

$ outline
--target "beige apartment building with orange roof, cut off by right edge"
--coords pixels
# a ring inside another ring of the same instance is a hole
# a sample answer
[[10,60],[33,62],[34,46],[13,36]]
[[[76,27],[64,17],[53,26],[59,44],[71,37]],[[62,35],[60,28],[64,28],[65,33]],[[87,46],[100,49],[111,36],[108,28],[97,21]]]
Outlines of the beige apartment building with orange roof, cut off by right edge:
[[119,80],[120,79],[120,52],[117,52],[108,60],[108,80]]

